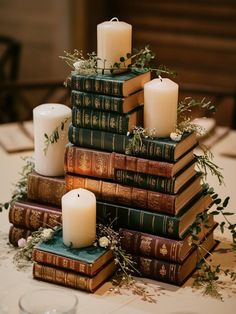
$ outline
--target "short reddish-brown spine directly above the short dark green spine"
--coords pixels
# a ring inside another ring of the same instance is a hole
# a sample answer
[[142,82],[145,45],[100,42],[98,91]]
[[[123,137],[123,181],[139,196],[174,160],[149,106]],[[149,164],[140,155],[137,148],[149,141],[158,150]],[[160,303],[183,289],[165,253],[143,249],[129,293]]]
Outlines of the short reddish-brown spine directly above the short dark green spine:
[[148,160],[114,153],[114,168],[152,174],[161,177],[171,177],[173,164],[164,161]]

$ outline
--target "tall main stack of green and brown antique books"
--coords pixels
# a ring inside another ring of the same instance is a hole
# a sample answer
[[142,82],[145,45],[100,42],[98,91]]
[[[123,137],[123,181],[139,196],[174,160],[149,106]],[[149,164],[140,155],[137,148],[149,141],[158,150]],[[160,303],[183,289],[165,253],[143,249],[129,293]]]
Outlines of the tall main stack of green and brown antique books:
[[[195,134],[180,142],[144,138],[142,149],[127,155],[127,132],[142,126],[142,106],[136,101],[128,113],[126,106],[142,92],[144,77],[148,81],[150,74],[72,74],[66,190],[85,188],[96,195],[97,219],[113,221],[143,276],[181,285],[206,254],[189,245],[190,227],[212,199],[195,170]],[[199,237],[209,251],[215,245],[213,217],[208,225]]]

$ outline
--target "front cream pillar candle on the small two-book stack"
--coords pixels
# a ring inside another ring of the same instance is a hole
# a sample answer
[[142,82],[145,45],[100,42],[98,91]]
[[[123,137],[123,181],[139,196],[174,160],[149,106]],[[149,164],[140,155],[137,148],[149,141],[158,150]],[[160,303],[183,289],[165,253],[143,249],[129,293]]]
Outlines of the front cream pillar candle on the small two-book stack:
[[91,245],[96,239],[96,197],[85,189],[62,196],[63,242],[73,248]]

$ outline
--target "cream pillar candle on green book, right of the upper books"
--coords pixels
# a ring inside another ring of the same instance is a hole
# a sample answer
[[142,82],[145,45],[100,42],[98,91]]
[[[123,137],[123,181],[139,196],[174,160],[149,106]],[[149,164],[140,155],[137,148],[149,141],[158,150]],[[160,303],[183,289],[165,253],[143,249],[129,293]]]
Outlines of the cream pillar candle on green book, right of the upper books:
[[144,84],[144,128],[155,136],[169,137],[177,124],[178,84],[157,78]]

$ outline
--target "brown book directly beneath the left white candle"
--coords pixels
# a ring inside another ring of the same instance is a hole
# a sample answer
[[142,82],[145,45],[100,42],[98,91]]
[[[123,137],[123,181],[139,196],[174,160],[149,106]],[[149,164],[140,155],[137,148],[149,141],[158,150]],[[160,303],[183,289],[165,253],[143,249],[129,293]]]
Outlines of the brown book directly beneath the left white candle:
[[29,200],[61,207],[61,198],[66,193],[64,177],[47,177],[32,171],[27,180]]

